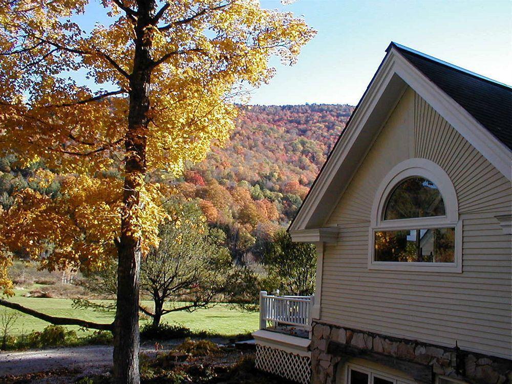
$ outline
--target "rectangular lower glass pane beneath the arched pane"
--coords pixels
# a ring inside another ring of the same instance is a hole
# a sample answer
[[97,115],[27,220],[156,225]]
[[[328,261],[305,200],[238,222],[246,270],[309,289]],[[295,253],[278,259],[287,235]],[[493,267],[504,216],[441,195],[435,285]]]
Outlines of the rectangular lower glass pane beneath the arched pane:
[[375,232],[375,261],[455,262],[455,229],[407,229]]

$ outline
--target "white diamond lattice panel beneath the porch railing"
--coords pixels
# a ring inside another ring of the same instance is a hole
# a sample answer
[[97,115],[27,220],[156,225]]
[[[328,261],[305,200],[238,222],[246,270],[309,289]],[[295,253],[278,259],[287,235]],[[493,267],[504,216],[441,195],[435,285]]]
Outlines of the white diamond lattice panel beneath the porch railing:
[[256,368],[301,384],[309,384],[311,378],[310,357],[259,344],[256,345]]

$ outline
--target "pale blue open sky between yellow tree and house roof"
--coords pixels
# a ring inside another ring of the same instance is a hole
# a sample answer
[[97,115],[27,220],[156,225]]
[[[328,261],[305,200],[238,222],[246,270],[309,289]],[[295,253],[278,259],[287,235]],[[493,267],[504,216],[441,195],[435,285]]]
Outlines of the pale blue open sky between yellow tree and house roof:
[[365,91],[391,41],[512,84],[512,2],[298,0],[264,8],[303,15],[318,32],[294,67],[277,73],[253,104],[348,103]]

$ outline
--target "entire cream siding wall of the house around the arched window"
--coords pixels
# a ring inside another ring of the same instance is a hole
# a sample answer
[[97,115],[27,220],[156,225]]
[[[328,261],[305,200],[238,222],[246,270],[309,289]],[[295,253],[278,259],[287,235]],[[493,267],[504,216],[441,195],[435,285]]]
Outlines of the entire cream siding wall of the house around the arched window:
[[[462,273],[368,269],[376,189],[413,157],[437,163],[455,186]],[[508,180],[409,89],[326,222],[340,236],[325,247],[321,320],[511,358],[511,239],[495,218],[510,214],[511,202]]]

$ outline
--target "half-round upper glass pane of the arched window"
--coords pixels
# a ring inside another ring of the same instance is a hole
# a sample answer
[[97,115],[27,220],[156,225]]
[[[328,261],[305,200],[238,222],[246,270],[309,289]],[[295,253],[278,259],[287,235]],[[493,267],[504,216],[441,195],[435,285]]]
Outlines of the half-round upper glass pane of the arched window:
[[422,177],[411,177],[392,191],[383,219],[411,219],[444,214],[444,202],[437,186]]

